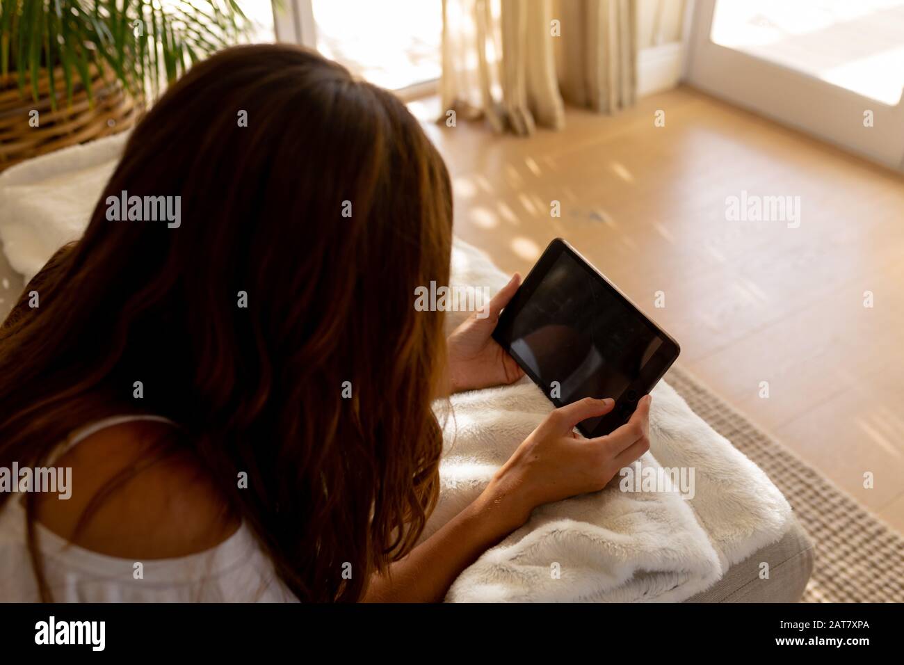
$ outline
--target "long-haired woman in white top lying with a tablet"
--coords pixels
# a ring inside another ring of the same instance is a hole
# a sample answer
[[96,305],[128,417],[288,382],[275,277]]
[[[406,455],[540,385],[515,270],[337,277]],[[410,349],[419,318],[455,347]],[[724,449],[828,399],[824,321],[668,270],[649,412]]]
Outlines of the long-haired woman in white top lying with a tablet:
[[[111,214],[161,196],[179,223]],[[648,402],[598,440],[572,429],[611,401],[551,413],[415,546],[431,400],[520,377],[490,336],[517,276],[448,340],[413,306],[448,282],[451,229],[391,93],[286,46],[196,65],[0,331],[0,466],[72,479],[0,495],[0,597],[438,601],[532,508],[601,489],[647,449]]]

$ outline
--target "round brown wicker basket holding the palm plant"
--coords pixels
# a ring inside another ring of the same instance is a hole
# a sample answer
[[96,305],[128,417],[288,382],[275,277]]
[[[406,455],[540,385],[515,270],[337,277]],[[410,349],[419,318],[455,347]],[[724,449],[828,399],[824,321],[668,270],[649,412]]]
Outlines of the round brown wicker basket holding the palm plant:
[[[66,103],[65,81],[58,68],[53,72],[57,90],[54,111],[47,73],[47,70],[40,73],[38,101],[33,100],[30,80],[22,96],[14,72],[0,78],[0,171],[61,147],[124,131],[135,125],[144,110],[113,76],[91,67],[93,108],[79,76],[72,80],[72,104]],[[29,123],[33,110],[38,111],[38,127]]]

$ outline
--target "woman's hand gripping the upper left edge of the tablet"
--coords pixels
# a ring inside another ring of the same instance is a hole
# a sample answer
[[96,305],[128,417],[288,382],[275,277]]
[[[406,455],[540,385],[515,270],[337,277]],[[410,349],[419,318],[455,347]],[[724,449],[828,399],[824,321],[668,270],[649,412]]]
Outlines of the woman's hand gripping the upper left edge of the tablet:
[[521,275],[515,272],[512,280],[485,305],[486,309],[472,313],[449,335],[447,354],[450,392],[513,384],[524,375],[514,358],[493,338],[499,312],[512,299],[520,285]]

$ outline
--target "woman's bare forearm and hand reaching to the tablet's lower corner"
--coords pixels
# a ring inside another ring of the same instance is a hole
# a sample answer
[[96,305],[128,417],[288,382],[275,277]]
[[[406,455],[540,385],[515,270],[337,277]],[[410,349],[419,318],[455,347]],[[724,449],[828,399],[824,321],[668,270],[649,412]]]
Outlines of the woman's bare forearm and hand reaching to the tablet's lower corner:
[[390,566],[374,575],[365,602],[437,603],[468,565],[544,503],[594,492],[649,450],[650,397],[615,432],[585,439],[573,432],[612,410],[611,399],[584,399],[553,411],[498,470],[474,503]]

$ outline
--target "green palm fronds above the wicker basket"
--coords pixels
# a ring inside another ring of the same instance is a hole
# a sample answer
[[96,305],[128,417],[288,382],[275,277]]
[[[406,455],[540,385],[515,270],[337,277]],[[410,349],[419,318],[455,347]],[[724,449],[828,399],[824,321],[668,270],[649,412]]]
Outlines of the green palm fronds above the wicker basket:
[[153,98],[249,26],[235,0],[0,0],[0,80],[12,72],[20,95],[49,95],[53,110],[76,88],[93,104],[92,71]]

